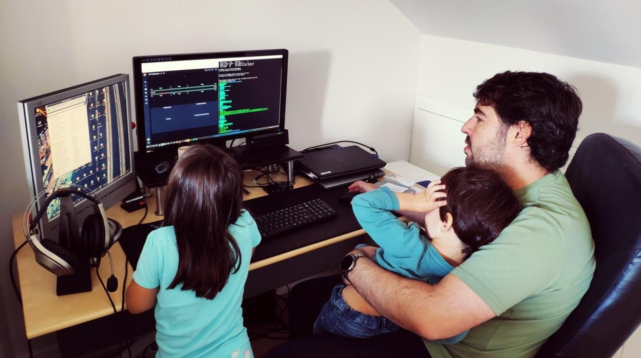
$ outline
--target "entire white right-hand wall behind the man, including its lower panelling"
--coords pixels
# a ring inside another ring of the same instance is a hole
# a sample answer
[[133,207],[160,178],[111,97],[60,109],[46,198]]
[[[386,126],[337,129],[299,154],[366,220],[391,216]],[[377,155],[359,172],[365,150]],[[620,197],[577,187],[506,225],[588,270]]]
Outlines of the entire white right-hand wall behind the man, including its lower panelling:
[[[428,163],[427,170],[441,174],[444,165],[462,163],[465,136],[460,132],[460,121],[472,115],[472,92],[483,80],[505,70],[549,72],[576,86],[583,114],[574,147],[595,132],[641,145],[640,68],[424,35],[415,110],[415,121],[419,118],[420,122],[415,122],[413,134],[417,125],[431,133],[429,137],[413,137],[412,149],[424,155],[413,151],[411,158]],[[465,108],[469,109],[467,116]],[[429,138],[453,149],[428,151],[430,143],[425,142]],[[624,345],[622,357],[638,357],[640,347],[641,329]]]

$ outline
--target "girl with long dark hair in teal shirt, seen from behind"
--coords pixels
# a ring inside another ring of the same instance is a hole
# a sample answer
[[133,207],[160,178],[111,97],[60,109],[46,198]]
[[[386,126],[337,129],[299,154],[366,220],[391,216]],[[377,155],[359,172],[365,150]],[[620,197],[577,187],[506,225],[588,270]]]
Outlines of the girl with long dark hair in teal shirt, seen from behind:
[[126,303],[155,305],[157,357],[253,357],[242,301],[258,227],[228,154],[194,145],[169,175],[163,227],[147,237]]

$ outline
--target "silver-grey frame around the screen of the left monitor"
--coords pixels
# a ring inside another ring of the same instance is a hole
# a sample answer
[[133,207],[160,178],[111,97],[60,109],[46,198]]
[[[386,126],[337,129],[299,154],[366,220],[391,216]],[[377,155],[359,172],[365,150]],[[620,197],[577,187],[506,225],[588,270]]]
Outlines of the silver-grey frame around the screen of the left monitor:
[[[106,86],[115,85],[116,83],[124,83],[128,122],[126,124],[126,128],[131,128],[131,101],[129,99],[130,92],[128,74],[115,74],[113,76],[97,79],[96,81],[90,81],[81,85],[64,88],[62,90],[38,95],[37,97],[31,97],[17,102],[22,135],[22,153],[24,155],[26,174],[28,175],[27,183],[29,186],[29,195],[31,195],[31,200],[44,190],[44,183],[42,182],[42,168],[40,168],[39,165],[36,165],[36,163],[40,163],[40,153],[38,149],[35,109],[76,95],[85,94]],[[131,163],[131,172],[122,175],[122,177],[115,179],[112,183],[107,184],[96,191],[96,195],[103,202],[105,210],[117,204],[117,202],[124,199],[124,197],[129,195],[136,188],[136,170],[133,158],[133,134],[131,133],[131,130],[126,131],[126,133],[129,140],[128,155],[129,163]],[[35,212],[40,210],[45,200],[46,197],[44,197],[44,195],[37,200],[34,206]],[[78,225],[82,225],[85,218],[90,213],[93,213],[91,204],[92,203],[87,199],[80,200],[78,203],[74,204]],[[34,215],[35,212],[33,213]],[[59,219],[60,215],[56,215],[51,220],[44,215],[40,220],[40,237],[52,240],[58,238],[58,232],[56,229],[58,227]]]

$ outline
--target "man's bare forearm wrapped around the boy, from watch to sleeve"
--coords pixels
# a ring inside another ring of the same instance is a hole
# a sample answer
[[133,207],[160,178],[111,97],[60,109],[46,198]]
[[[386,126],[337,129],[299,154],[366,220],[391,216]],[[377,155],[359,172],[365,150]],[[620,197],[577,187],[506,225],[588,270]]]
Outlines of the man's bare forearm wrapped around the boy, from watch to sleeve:
[[363,257],[348,275],[356,291],[376,311],[427,339],[453,337],[495,317],[492,309],[451,273],[432,286],[388,272]]

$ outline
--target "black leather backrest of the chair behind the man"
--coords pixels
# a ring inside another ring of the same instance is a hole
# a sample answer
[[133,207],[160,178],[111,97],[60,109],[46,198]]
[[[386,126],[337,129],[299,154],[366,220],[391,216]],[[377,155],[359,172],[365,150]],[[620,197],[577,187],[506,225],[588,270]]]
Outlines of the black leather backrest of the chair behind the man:
[[641,322],[641,147],[590,134],[565,177],[590,222],[596,270],[537,357],[612,357]]

